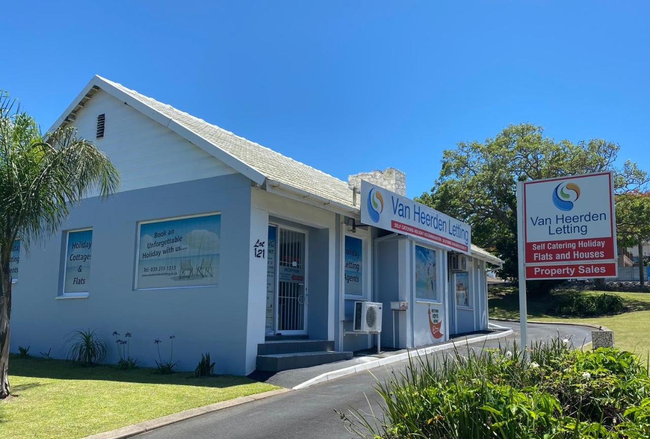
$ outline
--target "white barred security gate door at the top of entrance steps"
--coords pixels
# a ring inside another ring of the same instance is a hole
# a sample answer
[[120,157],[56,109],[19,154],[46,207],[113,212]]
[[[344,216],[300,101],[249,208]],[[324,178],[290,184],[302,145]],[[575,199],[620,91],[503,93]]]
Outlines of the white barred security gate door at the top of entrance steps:
[[307,288],[304,232],[279,228],[278,329],[282,334],[305,334]]

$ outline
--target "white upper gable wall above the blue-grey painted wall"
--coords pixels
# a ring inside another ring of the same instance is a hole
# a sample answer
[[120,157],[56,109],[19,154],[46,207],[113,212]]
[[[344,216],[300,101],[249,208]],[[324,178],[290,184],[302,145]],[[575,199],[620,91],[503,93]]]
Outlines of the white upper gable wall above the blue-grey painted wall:
[[[106,115],[96,139],[97,116]],[[120,191],[235,173],[220,160],[103,90],[77,112],[79,136],[104,151],[122,175]]]

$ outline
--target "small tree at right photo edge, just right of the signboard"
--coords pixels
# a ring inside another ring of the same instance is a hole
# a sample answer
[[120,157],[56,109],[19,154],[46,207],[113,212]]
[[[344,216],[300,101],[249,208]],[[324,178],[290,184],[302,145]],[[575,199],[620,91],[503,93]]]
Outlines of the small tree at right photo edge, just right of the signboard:
[[624,249],[638,245],[639,279],[643,286],[643,244],[650,242],[650,192],[637,190],[617,195],[616,240]]

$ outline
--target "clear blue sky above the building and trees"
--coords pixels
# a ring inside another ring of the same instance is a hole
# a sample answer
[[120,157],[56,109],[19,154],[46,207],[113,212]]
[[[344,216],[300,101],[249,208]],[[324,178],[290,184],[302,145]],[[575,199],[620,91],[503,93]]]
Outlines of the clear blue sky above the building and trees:
[[98,73],[336,177],[509,123],[621,144],[650,170],[645,1],[69,1],[3,5],[0,88],[43,125]]

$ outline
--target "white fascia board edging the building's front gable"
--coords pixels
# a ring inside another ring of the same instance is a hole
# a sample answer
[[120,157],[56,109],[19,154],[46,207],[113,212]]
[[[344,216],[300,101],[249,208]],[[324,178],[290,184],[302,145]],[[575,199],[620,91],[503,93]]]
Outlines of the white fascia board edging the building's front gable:
[[101,90],[104,90],[105,92],[112,95],[116,99],[119,99],[126,105],[129,105],[129,107],[138,110],[138,112],[157,121],[162,126],[167,127],[168,129],[174,131],[176,134],[178,134],[188,142],[191,142],[192,144],[200,147],[201,149],[203,149],[203,151],[205,151],[209,155],[213,156],[214,158],[217,158],[218,160],[221,160],[231,168],[235,169],[235,171],[238,171],[239,173],[245,175],[246,177],[256,182],[257,184],[262,184],[265,181],[266,176],[263,175],[257,169],[248,166],[248,164],[242,162],[242,160],[239,160],[239,158],[226,153],[226,151],[224,151],[217,145],[214,145],[208,140],[205,140],[205,138],[199,136],[198,134],[196,134],[196,132],[187,129],[186,127],[184,127],[183,125],[175,121],[174,119],[164,116],[164,114],[162,114],[161,112],[149,107],[148,105],[142,103],[141,101],[138,101],[138,99],[135,99],[135,97],[123,92],[119,88],[116,88],[116,86],[110,84],[110,82],[104,81],[104,79],[102,77],[99,77],[98,75],[95,75],[90,80],[90,82],[86,84],[85,88],[81,91],[81,93],[77,95],[77,97],[75,97],[74,101],[72,101],[72,104],[70,104],[68,108],[66,108],[65,112],[59,117],[59,119],[57,119],[54,125],[52,125],[50,131],[57,129],[65,121],[65,119],[72,112],[72,110],[74,110],[75,107],[79,105],[79,101],[81,101],[81,99],[85,97],[85,95],[90,91],[90,89],[93,86],[98,86],[99,88],[101,88]]

